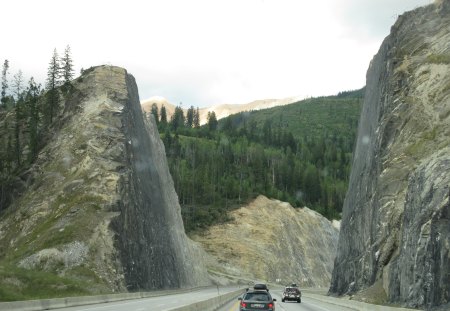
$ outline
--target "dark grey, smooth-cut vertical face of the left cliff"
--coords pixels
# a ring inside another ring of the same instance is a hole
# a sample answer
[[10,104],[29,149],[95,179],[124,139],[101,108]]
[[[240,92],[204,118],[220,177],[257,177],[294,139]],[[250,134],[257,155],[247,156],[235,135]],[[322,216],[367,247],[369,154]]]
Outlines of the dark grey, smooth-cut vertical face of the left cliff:
[[134,289],[205,283],[206,270],[188,241],[164,145],[153,119],[145,120],[136,83],[127,76],[125,129],[129,173],[119,184],[120,216],[114,219],[127,284]]

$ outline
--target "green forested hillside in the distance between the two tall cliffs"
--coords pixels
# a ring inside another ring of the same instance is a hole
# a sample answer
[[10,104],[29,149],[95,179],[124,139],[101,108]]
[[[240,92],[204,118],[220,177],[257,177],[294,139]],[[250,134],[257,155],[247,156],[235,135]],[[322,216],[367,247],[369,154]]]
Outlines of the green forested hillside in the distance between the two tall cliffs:
[[[339,219],[364,89],[196,124],[152,109],[166,146],[186,231],[227,221],[263,194]],[[164,110],[164,109],[162,109]]]

